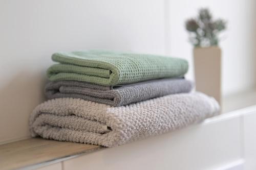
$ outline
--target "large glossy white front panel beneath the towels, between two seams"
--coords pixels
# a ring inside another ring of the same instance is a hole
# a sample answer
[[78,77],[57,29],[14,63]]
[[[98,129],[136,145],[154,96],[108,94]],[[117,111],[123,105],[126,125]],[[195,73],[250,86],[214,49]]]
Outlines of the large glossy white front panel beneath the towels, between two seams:
[[241,169],[241,116],[204,123],[63,162],[71,169]]

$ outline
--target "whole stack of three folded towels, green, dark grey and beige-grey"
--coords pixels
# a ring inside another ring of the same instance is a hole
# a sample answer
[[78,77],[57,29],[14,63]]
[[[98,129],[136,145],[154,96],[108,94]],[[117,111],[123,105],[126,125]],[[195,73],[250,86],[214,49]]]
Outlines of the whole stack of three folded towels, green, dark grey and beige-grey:
[[33,137],[114,147],[214,116],[218,103],[190,92],[186,60],[108,51],[55,53],[49,99],[30,116]]

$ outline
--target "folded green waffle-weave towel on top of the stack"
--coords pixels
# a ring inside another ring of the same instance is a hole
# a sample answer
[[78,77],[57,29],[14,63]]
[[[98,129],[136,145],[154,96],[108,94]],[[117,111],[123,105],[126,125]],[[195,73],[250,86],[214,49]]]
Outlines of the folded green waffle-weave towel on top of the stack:
[[47,70],[51,81],[83,81],[103,86],[183,77],[188,70],[184,59],[96,50],[55,53],[52,60],[59,64]]

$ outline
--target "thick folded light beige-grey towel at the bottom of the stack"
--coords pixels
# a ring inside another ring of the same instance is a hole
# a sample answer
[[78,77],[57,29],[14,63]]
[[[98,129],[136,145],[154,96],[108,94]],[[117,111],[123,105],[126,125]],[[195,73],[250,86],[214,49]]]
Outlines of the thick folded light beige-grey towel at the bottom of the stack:
[[171,94],[121,107],[59,98],[38,105],[30,116],[33,137],[115,147],[173,131],[218,113],[202,93]]

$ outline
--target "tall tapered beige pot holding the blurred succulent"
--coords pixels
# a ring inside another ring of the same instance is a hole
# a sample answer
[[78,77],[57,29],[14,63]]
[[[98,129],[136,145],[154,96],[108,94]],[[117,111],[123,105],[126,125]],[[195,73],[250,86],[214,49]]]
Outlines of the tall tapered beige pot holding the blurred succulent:
[[196,90],[213,96],[221,105],[221,49],[194,48]]

